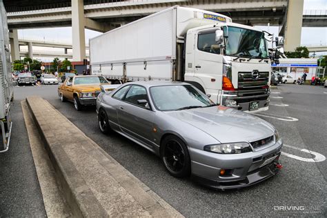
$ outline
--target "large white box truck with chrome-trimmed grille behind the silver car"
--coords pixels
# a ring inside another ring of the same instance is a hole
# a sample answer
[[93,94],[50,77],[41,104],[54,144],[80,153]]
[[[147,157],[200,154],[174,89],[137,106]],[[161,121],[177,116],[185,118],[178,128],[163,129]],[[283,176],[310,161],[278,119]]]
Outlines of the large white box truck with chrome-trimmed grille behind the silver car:
[[268,110],[267,34],[222,14],[174,6],[90,39],[91,74],[114,83],[186,81],[221,105]]

